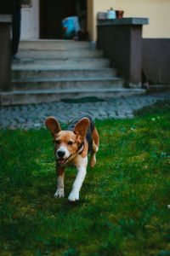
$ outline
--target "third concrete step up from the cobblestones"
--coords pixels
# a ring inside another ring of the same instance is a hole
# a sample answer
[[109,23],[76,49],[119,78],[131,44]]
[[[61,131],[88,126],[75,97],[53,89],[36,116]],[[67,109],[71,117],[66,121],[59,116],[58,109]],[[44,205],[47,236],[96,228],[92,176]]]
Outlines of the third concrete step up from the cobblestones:
[[59,69],[59,68],[13,68],[12,79],[73,79],[115,77],[114,68]]

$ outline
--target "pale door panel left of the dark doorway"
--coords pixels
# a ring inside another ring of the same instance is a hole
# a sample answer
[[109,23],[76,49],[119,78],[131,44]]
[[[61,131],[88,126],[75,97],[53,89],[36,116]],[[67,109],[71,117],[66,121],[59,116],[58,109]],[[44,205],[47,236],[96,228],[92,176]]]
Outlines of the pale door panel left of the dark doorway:
[[39,38],[39,0],[28,2],[21,9],[21,40]]

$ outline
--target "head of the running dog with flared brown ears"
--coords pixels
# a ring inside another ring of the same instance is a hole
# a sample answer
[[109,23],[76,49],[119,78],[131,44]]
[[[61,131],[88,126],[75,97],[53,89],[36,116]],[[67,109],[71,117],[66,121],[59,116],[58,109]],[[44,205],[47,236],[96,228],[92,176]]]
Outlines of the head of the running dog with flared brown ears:
[[77,122],[74,131],[61,131],[57,119],[54,117],[46,119],[46,126],[54,137],[55,158],[60,166],[64,166],[79,154],[89,125],[89,119],[83,118]]

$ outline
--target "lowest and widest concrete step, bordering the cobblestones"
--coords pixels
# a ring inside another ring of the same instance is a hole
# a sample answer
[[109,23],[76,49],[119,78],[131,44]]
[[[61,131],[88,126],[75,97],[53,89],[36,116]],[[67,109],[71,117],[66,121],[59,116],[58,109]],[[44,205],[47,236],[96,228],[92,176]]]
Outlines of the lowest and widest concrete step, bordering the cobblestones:
[[144,89],[83,89],[83,90],[15,90],[0,92],[1,105],[36,104],[42,102],[59,102],[61,99],[97,96],[110,98],[120,96],[134,96],[145,93]]

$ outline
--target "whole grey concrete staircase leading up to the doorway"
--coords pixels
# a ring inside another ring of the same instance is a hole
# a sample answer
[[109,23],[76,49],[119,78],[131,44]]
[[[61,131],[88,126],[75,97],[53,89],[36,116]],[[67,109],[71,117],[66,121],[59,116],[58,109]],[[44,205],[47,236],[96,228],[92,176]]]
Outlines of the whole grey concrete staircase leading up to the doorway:
[[20,43],[21,61],[12,65],[12,88],[2,105],[58,102],[84,96],[116,97],[144,93],[123,88],[123,79],[89,42],[39,40]]

